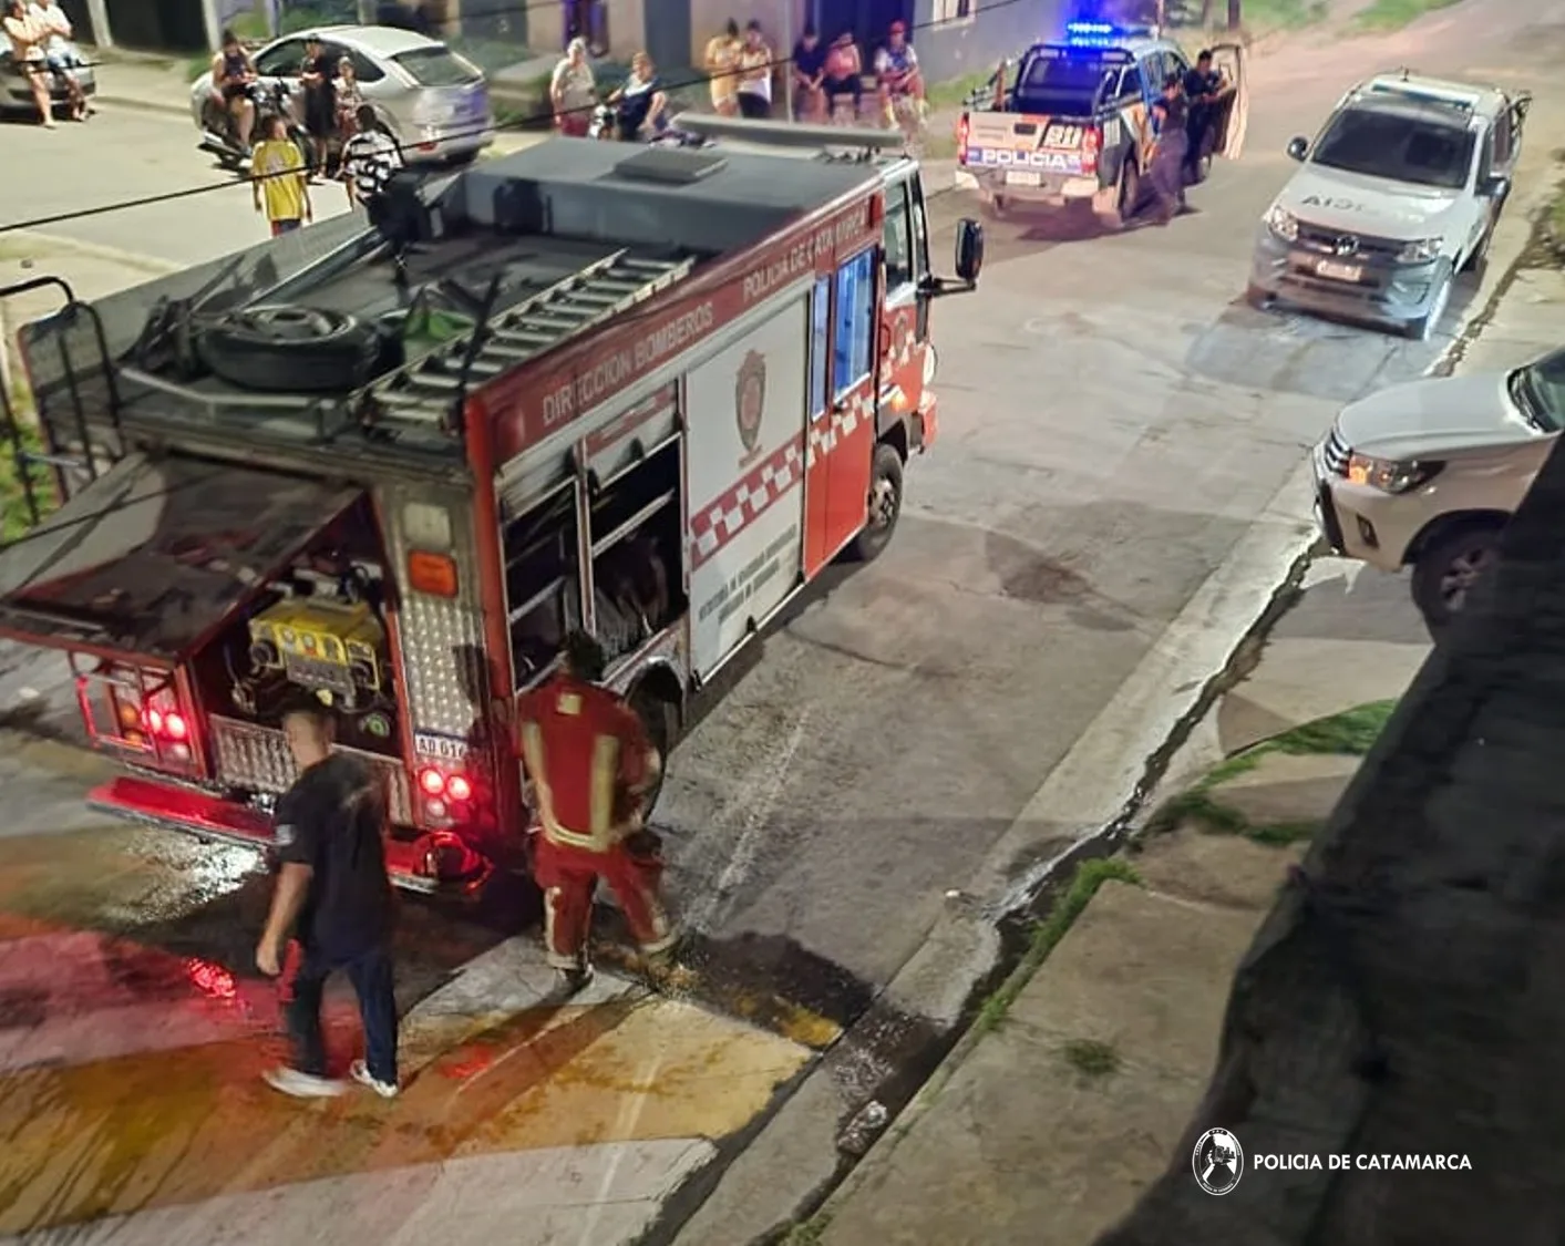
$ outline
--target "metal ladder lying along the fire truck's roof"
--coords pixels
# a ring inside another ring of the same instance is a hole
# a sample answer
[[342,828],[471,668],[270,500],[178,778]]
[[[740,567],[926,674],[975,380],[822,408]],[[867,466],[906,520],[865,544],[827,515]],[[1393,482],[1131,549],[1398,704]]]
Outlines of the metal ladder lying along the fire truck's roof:
[[362,398],[380,426],[455,427],[470,380],[482,384],[543,355],[682,280],[695,263],[617,250],[382,377]]

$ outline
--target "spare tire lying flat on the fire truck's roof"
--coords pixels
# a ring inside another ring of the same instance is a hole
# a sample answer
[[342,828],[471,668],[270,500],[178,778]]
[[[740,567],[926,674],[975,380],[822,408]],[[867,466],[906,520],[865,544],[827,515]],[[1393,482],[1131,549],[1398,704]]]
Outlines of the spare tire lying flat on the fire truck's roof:
[[380,355],[372,324],[282,304],[230,312],[200,335],[200,357],[246,390],[341,393],[363,385]]

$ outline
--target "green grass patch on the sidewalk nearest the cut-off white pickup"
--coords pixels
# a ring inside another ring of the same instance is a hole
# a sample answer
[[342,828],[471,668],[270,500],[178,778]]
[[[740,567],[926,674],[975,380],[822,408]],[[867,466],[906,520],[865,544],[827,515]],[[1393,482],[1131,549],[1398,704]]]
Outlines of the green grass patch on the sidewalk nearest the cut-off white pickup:
[[1396,701],[1369,701],[1261,740],[1254,748],[1218,762],[1191,787],[1163,801],[1147,819],[1146,833],[1166,834],[1182,825],[1193,825],[1210,834],[1244,836],[1255,844],[1271,847],[1311,839],[1319,830],[1316,822],[1252,823],[1238,809],[1214,797],[1213,790],[1249,773],[1272,753],[1362,758],[1385,731],[1394,709]]

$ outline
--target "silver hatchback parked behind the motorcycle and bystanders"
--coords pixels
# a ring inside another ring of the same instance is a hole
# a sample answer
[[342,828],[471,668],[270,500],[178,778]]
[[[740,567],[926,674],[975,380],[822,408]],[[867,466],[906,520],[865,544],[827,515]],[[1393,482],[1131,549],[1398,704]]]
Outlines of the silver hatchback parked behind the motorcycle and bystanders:
[[[255,52],[263,89],[280,81],[297,102],[299,66],[310,38],[318,38],[329,56],[352,61],[365,103],[374,106],[405,160],[473,160],[495,141],[484,70],[438,39],[410,30],[318,27],[274,39]],[[203,110],[211,91],[211,74],[191,83],[191,119],[199,133],[207,130]]]

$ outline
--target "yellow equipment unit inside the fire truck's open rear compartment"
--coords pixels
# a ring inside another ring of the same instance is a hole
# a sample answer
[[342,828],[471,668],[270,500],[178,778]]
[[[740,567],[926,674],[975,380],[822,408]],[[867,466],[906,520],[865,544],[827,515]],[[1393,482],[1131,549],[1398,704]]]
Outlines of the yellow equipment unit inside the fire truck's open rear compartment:
[[385,692],[387,632],[363,601],[290,596],[250,620],[250,665],[352,714]]

